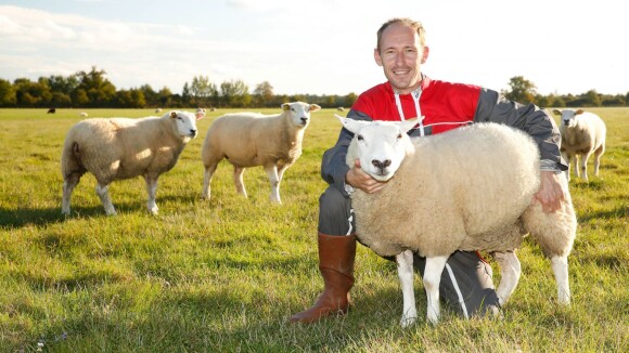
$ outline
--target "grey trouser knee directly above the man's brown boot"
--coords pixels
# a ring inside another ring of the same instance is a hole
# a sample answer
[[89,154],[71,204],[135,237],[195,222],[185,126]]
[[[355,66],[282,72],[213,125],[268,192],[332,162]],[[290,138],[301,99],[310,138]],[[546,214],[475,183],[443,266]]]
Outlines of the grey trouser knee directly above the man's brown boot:
[[356,233],[351,200],[334,185],[319,197],[319,232],[326,235]]

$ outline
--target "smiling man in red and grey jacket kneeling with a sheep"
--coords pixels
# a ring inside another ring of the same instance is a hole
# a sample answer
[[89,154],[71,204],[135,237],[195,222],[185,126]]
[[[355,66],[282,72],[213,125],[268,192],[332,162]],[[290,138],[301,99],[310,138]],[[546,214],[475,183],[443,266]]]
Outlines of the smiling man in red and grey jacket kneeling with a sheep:
[[[541,186],[531,201],[541,202],[545,212],[557,210],[564,198],[559,173],[567,166],[561,159],[560,133],[554,121],[535,105],[510,102],[496,91],[429,79],[420,69],[428,53],[421,23],[393,18],[383,24],[377,31],[374,58],[383,67],[387,82],[362,93],[347,117],[358,120],[423,117],[419,127],[409,132],[411,136],[441,133],[479,121],[522,129],[535,139],[541,153]],[[347,167],[345,156],[351,138],[343,129],[336,145],[323,156],[321,175],[330,184],[319,199],[319,269],[324,290],[312,308],[291,317],[294,323],[317,322],[330,314],[347,313],[349,308],[356,254],[349,193],[355,188],[377,193],[385,185],[364,173],[358,160],[354,168]],[[423,273],[425,259],[415,256],[414,263]],[[452,254],[441,275],[439,290],[465,317],[498,308],[491,267],[477,252]]]

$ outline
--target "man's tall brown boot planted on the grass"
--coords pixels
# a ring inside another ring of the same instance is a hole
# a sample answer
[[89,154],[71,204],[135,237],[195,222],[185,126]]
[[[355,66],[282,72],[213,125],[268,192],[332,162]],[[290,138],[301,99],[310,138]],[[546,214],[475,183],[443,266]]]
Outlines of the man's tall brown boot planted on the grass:
[[312,308],[291,316],[291,323],[314,323],[331,314],[346,314],[349,289],[354,286],[356,235],[332,236],[319,233],[319,271],[323,292]]

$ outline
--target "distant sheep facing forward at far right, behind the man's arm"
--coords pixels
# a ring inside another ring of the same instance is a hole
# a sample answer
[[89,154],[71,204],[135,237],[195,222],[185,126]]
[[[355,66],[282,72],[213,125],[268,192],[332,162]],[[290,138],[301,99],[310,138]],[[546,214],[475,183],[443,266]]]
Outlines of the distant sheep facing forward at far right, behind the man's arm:
[[575,175],[579,176],[578,156],[581,156],[581,173],[588,180],[588,159],[594,154],[594,175],[599,176],[601,156],[605,152],[605,122],[595,114],[583,109],[553,109],[562,117],[562,157],[568,164],[566,175],[570,180],[570,161],[575,161]]

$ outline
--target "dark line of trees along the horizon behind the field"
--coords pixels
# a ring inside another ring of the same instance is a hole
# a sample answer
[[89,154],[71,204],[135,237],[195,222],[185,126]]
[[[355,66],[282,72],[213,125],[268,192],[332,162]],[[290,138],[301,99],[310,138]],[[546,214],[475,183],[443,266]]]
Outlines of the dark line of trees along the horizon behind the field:
[[[629,106],[629,92],[622,94],[601,94],[595,90],[586,93],[549,94],[537,93],[536,86],[522,76],[510,79],[510,90],[503,93],[508,99],[519,102],[532,102],[541,107],[579,107],[579,106]],[[258,83],[249,92],[242,80],[223,81],[216,84],[207,76],[195,76],[185,82],[181,94],[172,93],[164,87],[155,91],[143,84],[128,90],[116,89],[106,78],[103,69],[92,66],[90,71],[77,71],[67,77],[54,75],[40,77],[37,81],[26,78],[13,82],[0,78],[0,107],[18,108],[149,108],[149,107],[278,107],[282,103],[303,101],[316,103],[322,107],[350,107],[358,96],[312,95],[312,94],[274,94],[268,81]]]

